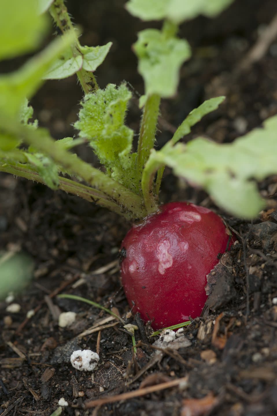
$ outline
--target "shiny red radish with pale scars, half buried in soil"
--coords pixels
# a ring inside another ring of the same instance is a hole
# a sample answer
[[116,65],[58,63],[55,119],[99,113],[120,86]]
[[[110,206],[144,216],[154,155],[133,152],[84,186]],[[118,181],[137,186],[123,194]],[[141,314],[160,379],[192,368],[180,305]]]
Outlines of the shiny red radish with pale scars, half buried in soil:
[[134,225],[121,245],[121,279],[132,311],[153,329],[199,316],[206,276],[228,240],[217,214],[185,202],[166,204]]

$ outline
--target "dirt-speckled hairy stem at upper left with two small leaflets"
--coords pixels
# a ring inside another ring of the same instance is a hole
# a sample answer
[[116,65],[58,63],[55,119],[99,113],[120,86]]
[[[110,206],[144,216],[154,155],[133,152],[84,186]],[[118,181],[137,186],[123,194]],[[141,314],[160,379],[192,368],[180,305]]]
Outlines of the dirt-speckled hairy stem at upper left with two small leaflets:
[[[71,47],[72,54],[74,57],[80,55],[80,42],[78,40],[77,33],[74,29],[74,26],[72,25],[70,16],[67,12],[67,7],[65,6],[63,0],[55,0],[51,5],[49,11],[55,24],[62,33],[74,33],[75,44]],[[80,69],[80,71],[77,71],[77,77],[85,94],[89,92],[95,92],[99,88],[95,76],[92,72],[85,71],[85,69]]]

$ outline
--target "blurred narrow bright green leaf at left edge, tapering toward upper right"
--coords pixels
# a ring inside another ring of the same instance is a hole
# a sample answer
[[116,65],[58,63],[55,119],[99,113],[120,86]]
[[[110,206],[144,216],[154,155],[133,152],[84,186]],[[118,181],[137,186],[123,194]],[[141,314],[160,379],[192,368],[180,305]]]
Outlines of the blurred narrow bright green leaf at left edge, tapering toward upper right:
[[42,77],[52,62],[71,44],[73,35],[65,35],[52,42],[42,52],[29,59],[11,74],[0,75],[0,111],[16,117],[26,97],[30,98],[42,84]]

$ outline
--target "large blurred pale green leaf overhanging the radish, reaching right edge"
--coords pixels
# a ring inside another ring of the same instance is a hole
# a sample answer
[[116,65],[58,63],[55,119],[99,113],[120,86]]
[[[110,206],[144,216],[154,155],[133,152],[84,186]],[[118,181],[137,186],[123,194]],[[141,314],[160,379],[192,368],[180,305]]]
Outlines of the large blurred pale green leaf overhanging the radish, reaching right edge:
[[232,144],[198,138],[187,145],[166,144],[147,163],[166,164],[178,176],[204,188],[214,201],[238,217],[253,218],[264,203],[253,179],[277,174],[277,116]]

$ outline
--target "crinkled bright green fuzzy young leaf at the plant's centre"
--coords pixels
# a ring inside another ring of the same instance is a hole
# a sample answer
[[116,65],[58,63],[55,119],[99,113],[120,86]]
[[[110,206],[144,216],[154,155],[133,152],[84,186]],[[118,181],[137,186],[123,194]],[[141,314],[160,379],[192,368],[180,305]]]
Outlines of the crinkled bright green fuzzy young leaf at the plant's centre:
[[125,126],[127,105],[132,97],[125,84],[116,88],[108,84],[105,90],[87,94],[74,124],[80,137],[89,141],[107,173],[125,186],[134,187],[135,154],[133,131]]

